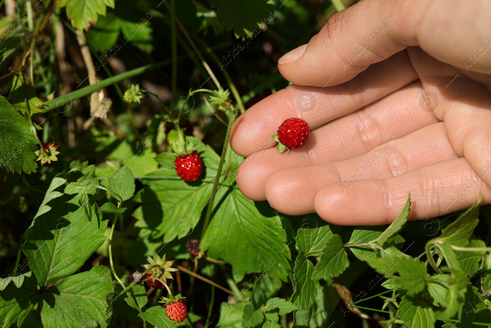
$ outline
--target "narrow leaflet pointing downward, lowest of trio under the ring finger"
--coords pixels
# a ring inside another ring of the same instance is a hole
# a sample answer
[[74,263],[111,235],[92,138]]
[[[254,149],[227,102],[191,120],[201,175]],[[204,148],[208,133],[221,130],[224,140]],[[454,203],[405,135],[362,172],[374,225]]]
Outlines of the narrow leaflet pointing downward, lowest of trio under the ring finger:
[[302,309],[314,301],[317,291],[321,287],[319,281],[312,279],[314,265],[302,252],[299,252],[293,269],[294,290],[290,301]]

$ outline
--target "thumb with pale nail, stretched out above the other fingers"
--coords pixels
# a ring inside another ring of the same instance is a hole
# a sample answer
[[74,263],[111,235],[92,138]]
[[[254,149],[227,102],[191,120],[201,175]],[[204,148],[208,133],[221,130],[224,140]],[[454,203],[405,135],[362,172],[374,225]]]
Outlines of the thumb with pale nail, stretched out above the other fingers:
[[[491,10],[491,2],[455,2],[360,1],[333,15],[308,44],[281,57],[278,68],[297,85],[333,86],[414,45],[438,60],[464,67],[468,56],[485,51],[483,44],[489,49],[491,21],[481,13]],[[458,46],[449,39],[458,40]],[[469,65],[476,72],[491,72],[490,60]]]

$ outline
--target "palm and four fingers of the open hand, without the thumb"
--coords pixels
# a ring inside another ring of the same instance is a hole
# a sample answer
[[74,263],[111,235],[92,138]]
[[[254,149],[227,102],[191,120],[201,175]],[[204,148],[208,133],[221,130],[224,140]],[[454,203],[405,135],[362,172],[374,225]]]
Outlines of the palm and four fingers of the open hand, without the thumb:
[[[418,47],[337,86],[291,85],[235,123],[231,147],[247,156],[237,183],[280,212],[342,225],[390,223],[409,192],[412,219],[468,208],[479,190],[489,203],[490,85]],[[269,138],[290,117],[314,131],[287,155]]]

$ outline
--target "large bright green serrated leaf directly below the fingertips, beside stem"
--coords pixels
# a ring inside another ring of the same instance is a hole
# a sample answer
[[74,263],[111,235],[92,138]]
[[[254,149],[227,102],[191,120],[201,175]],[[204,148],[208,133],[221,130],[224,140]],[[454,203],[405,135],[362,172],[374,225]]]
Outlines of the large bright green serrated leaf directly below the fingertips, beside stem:
[[232,264],[235,281],[247,272],[264,272],[286,281],[290,249],[281,220],[264,202],[230,188],[201,240],[201,249]]

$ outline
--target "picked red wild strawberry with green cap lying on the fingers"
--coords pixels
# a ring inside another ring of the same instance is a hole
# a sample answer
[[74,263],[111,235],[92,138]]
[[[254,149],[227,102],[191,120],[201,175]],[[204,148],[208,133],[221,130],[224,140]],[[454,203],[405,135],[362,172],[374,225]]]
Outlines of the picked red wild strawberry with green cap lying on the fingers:
[[310,137],[310,128],[307,122],[299,118],[285,119],[278,127],[278,133],[271,137],[278,142],[277,149],[283,152],[287,149],[296,149],[305,144]]

